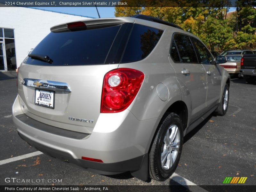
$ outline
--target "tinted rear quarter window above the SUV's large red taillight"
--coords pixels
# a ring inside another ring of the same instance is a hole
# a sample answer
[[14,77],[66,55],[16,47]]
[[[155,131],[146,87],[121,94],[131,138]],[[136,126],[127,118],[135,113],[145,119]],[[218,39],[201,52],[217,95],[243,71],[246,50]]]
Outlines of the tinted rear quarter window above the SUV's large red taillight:
[[163,30],[134,24],[121,63],[135,62],[146,58],[155,48]]

